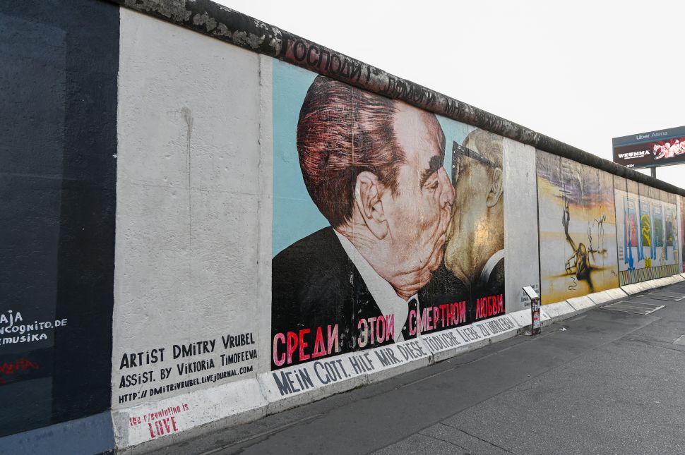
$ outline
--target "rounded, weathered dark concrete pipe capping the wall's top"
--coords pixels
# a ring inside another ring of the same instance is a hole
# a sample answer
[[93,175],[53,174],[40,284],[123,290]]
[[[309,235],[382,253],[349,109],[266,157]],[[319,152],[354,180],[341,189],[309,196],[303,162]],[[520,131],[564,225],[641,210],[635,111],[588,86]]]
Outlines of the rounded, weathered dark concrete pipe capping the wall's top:
[[398,78],[375,66],[305,40],[210,0],[109,0],[141,13],[166,20],[251,51],[286,61],[364,90],[413,104],[416,107],[477,126],[573,161],[685,196],[678,188],[607,159],[584,152],[549,136],[536,133],[487,111]]

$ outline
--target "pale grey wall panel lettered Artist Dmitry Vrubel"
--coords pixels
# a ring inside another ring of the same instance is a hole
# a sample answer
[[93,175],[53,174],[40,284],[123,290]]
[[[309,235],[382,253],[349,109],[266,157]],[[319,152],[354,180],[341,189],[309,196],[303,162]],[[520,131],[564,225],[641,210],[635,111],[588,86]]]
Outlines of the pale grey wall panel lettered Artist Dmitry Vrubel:
[[263,405],[259,62],[121,9],[112,353],[120,447]]

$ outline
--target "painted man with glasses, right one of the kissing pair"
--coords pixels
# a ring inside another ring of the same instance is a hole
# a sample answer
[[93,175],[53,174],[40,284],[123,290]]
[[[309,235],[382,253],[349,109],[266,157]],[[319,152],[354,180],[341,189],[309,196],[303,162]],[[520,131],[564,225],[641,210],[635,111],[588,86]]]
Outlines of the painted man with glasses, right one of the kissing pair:
[[[421,301],[441,308],[466,302],[466,320],[504,314],[504,138],[481,129],[453,142],[455,200],[443,266]],[[447,328],[447,327],[444,327]]]

